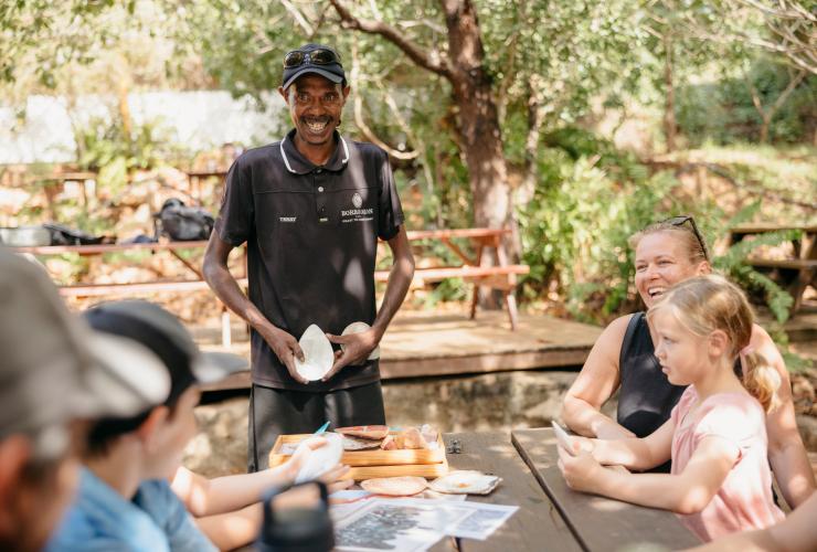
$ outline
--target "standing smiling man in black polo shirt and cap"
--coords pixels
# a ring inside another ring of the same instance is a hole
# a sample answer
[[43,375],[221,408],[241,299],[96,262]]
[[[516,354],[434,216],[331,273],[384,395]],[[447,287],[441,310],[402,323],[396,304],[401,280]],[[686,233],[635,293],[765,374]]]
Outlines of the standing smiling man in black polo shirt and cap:
[[[335,50],[306,44],[284,57],[278,92],[294,129],[279,142],[242,155],[230,169],[204,276],[215,295],[252,328],[248,470],[268,465],[282,433],[384,424],[380,342],[411,284],[414,258],[386,153],[337,130],[349,95]],[[378,238],[394,264],[376,310]],[[250,297],[227,269],[247,244]],[[339,337],[351,322],[368,331]],[[298,338],[311,323],[344,351],[321,381],[295,369]]]

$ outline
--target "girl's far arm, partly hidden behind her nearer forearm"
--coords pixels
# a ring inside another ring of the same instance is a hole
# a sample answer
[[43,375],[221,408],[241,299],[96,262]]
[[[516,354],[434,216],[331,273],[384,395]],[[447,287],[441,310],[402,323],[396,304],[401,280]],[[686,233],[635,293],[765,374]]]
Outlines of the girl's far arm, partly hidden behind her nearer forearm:
[[[669,460],[672,453],[675,424],[668,420],[647,437],[602,440],[587,439],[593,458],[603,465],[618,465],[644,471]],[[584,447],[583,447],[584,448]]]

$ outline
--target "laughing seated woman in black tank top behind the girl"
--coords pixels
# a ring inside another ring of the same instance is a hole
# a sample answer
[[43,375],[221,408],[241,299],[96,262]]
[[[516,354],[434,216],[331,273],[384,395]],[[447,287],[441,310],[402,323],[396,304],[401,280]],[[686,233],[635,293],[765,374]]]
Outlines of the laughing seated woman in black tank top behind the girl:
[[[691,216],[651,224],[630,238],[630,246],[636,251],[636,289],[647,308],[673,284],[711,272],[707,245]],[[788,373],[772,338],[756,323],[750,344],[781,376],[779,407],[766,416],[768,459],[786,502],[796,508],[814,491],[815,478],[797,431]],[[598,337],[567,391],[561,416],[587,437],[646,437],[669,420],[683,390],[661,372],[646,317],[637,312],[614,320]],[[601,407],[616,391],[614,421]],[[669,471],[669,463],[658,470]]]

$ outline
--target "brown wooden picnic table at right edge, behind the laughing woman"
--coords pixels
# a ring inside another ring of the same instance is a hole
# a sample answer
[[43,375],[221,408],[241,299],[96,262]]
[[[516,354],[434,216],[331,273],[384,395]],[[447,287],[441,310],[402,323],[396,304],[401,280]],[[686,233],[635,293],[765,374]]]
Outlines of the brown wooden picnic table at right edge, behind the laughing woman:
[[817,225],[815,224],[752,224],[738,226],[730,232],[732,244],[747,236],[770,232],[795,231],[798,237],[792,238],[794,255],[789,258],[767,258],[760,255],[750,256],[747,262],[753,267],[770,273],[771,277],[783,285],[792,295],[794,304],[792,314],[803,305],[803,295],[808,286],[817,287]]

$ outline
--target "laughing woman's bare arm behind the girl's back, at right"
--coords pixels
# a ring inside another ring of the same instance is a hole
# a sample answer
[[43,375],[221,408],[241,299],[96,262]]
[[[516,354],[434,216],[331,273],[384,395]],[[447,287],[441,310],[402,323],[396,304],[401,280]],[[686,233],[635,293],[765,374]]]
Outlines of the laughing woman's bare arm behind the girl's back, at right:
[[815,490],[814,471],[806,456],[792,400],[792,382],[788,371],[772,338],[760,326],[752,328],[751,344],[777,369],[781,386],[777,390],[779,405],[766,415],[768,435],[768,461],[783,498],[792,508],[805,502]]

